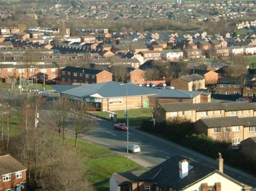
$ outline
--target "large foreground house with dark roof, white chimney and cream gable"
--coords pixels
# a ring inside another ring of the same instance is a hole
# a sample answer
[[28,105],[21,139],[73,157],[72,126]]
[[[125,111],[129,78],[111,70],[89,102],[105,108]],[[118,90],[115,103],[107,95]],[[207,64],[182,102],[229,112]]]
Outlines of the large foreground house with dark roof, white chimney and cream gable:
[[174,155],[148,171],[114,173],[110,178],[110,191],[249,191],[252,187],[224,174],[222,155],[216,167],[190,158]]

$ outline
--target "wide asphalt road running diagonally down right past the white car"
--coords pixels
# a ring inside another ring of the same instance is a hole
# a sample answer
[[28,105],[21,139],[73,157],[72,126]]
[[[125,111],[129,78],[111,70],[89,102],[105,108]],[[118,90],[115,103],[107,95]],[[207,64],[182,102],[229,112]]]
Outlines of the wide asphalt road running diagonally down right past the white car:
[[[113,124],[110,122],[99,121],[98,128],[87,132],[87,134],[82,138],[92,143],[104,145],[110,150],[126,156],[127,134],[124,131],[115,130],[113,128]],[[132,143],[139,145],[141,147],[141,152],[136,154],[129,154],[129,158],[142,165],[143,167],[152,168],[175,154],[185,156],[200,163],[211,165],[214,168],[217,166],[216,160],[205,157],[190,149],[167,142],[159,137],[141,132],[135,128],[130,128],[129,144]],[[225,159],[224,166],[225,174],[244,184],[256,187],[255,176],[228,167],[225,165]]]

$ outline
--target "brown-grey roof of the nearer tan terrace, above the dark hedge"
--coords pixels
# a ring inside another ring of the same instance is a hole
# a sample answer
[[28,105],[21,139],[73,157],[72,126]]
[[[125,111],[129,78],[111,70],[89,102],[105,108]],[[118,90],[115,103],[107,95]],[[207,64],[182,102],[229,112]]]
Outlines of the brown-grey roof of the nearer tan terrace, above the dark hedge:
[[207,128],[222,128],[225,126],[243,125],[244,122],[237,116],[222,118],[206,118],[200,119],[206,124]]

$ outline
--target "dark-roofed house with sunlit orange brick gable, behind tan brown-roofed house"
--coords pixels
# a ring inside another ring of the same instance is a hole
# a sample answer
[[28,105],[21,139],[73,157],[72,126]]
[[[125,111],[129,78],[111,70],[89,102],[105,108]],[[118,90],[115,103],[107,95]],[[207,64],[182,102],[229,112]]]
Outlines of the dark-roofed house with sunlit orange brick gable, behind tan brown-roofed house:
[[199,70],[199,69],[191,69],[190,74],[200,74],[203,75],[205,79],[205,85],[216,84],[218,80],[218,73],[212,70]]

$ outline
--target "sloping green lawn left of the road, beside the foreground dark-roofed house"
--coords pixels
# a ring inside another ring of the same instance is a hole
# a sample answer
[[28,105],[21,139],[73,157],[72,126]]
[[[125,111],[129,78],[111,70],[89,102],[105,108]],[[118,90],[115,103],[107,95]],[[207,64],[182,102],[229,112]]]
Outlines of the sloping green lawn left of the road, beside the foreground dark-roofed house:
[[[74,138],[67,139],[68,144],[74,145]],[[88,181],[94,184],[97,191],[109,190],[109,179],[115,172],[129,170],[145,171],[137,163],[123,156],[114,154],[111,150],[79,139],[77,149],[85,156],[85,168],[88,171]]]

